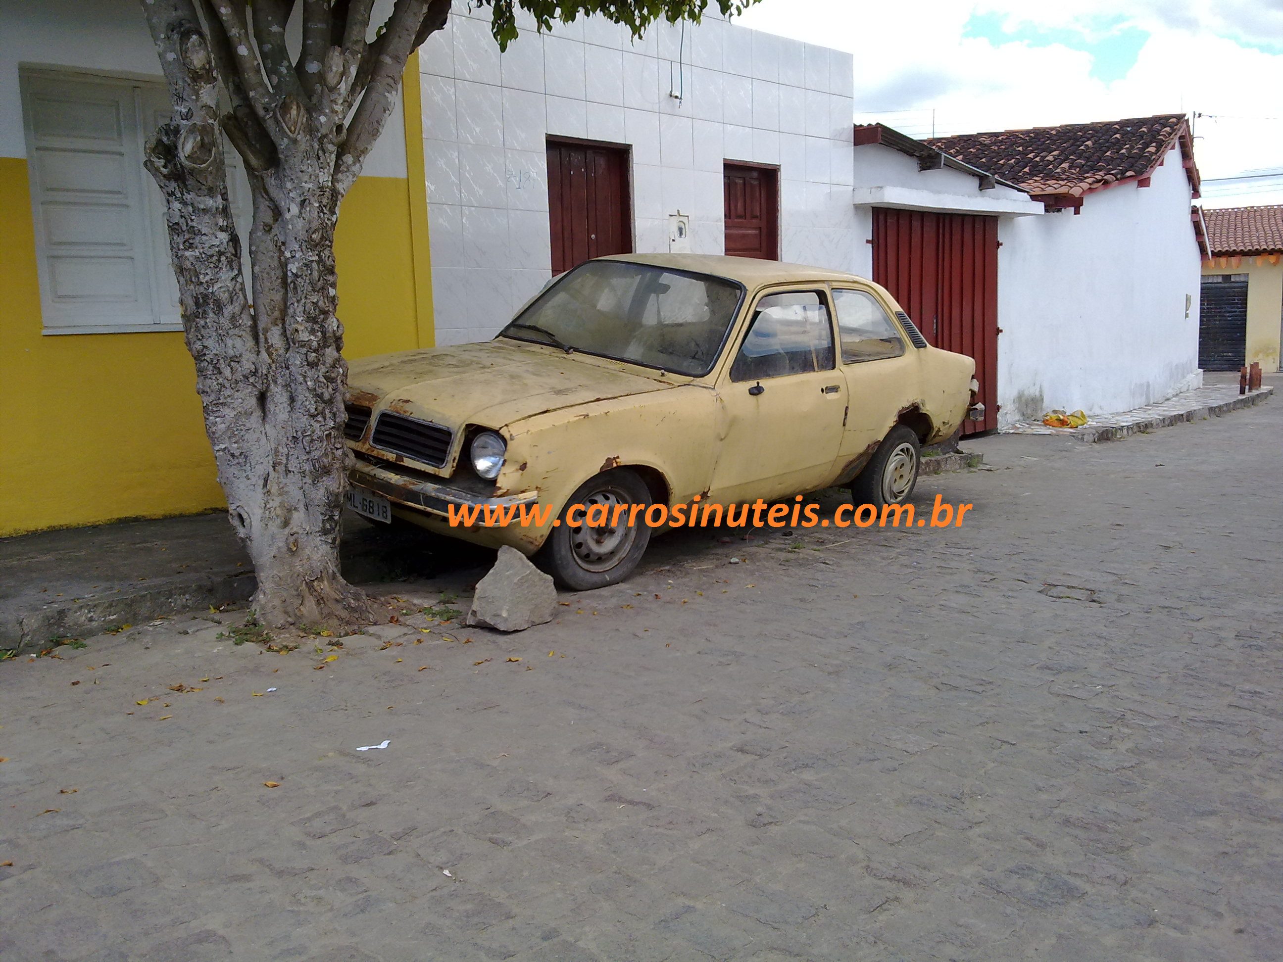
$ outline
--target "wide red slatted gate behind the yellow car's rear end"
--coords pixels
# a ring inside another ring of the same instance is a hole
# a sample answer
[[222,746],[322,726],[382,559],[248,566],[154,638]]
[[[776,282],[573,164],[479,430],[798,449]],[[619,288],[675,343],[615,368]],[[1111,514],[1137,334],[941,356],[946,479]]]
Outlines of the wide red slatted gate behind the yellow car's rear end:
[[975,360],[984,421],[998,427],[998,218],[874,209],[874,281],[934,346]]

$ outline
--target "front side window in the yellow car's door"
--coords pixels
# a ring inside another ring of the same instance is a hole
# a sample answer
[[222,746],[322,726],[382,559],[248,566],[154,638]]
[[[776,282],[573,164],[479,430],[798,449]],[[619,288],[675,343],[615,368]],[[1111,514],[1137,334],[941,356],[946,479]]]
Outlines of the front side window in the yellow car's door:
[[833,368],[833,322],[820,291],[769,294],[757,301],[730,368],[731,381],[804,375]]

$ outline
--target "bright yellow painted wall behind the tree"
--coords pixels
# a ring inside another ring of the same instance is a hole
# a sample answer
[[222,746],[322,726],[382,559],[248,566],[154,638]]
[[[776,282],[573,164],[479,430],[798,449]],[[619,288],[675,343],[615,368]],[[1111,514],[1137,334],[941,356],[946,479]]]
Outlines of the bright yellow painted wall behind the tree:
[[[349,358],[420,346],[409,191],[362,177],[340,212]],[[41,333],[27,162],[0,158],[0,536],[222,504],[182,333]]]

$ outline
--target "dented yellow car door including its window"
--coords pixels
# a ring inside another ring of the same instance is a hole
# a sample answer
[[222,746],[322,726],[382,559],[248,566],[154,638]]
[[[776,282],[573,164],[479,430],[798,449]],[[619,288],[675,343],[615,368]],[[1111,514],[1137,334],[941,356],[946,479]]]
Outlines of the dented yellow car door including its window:
[[718,450],[709,499],[810,491],[833,475],[847,385],[837,369],[822,286],[761,294],[717,386]]

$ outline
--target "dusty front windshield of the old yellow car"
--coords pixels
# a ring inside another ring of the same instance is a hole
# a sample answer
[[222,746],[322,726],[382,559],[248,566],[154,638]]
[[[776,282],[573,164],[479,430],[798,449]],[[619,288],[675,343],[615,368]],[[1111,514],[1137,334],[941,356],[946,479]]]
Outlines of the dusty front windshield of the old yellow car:
[[717,360],[743,292],[709,274],[590,260],[539,295],[500,336],[698,377]]

